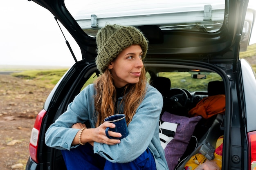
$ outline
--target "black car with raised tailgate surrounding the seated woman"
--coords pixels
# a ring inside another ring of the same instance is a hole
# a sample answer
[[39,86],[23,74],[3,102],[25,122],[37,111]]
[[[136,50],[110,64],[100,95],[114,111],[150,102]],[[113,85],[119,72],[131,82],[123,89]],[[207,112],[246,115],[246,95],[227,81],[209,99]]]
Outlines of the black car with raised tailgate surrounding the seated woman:
[[[224,135],[222,169],[254,169],[256,75],[246,60],[239,59],[239,52],[248,45],[256,14],[247,9],[248,0],[186,1],[193,8],[184,7],[185,2],[167,1],[141,4],[93,1],[88,5],[74,1],[76,6],[64,0],[32,1],[48,9],[65,26],[80,46],[82,60],[77,61],[72,53],[74,66],[56,84],[36,117],[26,170],[65,169],[61,152],[45,145],[45,132],[81,89],[100,75],[94,61],[95,35],[106,23],[136,26],[148,38],[144,60],[148,78],[168,77],[172,82],[167,91],[162,91],[166,82],[155,86],[164,97],[163,111],[186,115],[200,100],[210,96],[210,91],[214,91],[213,95],[225,94],[225,113],[221,118],[204,119],[200,124],[204,124],[204,130],[195,129],[198,146],[205,144],[205,140],[216,141],[213,137],[216,134]],[[141,1],[132,3],[135,2]],[[75,13],[75,7],[81,10]],[[147,9],[141,12],[140,7]],[[221,85],[215,84],[210,89],[209,82],[216,81],[222,82]],[[166,98],[175,104],[168,103]],[[214,126],[216,122],[218,126]],[[187,155],[194,150],[190,145],[189,148]],[[182,170],[182,163],[176,168]]]

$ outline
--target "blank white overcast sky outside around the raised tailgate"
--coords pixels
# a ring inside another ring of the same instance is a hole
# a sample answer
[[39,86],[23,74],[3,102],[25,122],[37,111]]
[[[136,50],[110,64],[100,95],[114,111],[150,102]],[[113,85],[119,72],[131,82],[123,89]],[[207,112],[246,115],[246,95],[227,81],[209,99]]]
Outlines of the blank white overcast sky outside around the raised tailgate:
[[[256,0],[250,0],[256,9]],[[72,66],[74,59],[52,13],[27,0],[2,0],[0,5],[0,65]],[[78,58],[80,49],[63,29]],[[256,43],[256,26],[250,43]]]

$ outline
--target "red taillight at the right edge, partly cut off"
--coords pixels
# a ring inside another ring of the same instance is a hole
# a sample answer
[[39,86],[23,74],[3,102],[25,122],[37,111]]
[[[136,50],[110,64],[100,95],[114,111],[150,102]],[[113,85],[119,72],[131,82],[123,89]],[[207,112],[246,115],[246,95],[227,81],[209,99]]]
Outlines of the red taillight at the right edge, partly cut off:
[[249,141],[249,170],[256,170],[256,132],[248,133]]

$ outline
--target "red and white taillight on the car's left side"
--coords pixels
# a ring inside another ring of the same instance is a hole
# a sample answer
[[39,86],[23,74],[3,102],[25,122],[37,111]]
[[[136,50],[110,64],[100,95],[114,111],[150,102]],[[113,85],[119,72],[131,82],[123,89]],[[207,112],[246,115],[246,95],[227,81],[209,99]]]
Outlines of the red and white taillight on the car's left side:
[[29,143],[29,153],[30,157],[36,163],[38,162],[37,151],[38,151],[38,138],[40,135],[40,128],[42,124],[43,117],[45,116],[46,110],[41,110],[36,116],[36,121],[34,128],[31,131],[30,143]]

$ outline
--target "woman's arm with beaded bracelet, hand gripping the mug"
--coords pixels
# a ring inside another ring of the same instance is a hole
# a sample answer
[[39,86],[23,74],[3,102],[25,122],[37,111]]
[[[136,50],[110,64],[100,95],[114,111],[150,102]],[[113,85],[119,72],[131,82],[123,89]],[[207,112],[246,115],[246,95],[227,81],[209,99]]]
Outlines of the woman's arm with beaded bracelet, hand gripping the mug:
[[[120,143],[120,140],[108,139],[105,134],[105,129],[115,126],[114,124],[103,123],[98,128],[94,128],[95,110],[94,107],[92,107],[94,106],[92,97],[94,93],[94,87],[93,84],[91,84],[74,98],[74,101],[68,105],[67,111],[58,117],[54,124],[48,128],[45,134],[45,144],[47,146],[68,150],[77,147],[79,145],[80,129],[83,128],[83,124],[76,123],[88,120],[92,128],[83,130],[81,134],[82,143],[90,142],[92,145],[94,141],[108,145]],[[119,137],[120,135],[115,132],[110,132],[110,134],[114,137]]]

